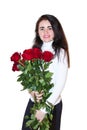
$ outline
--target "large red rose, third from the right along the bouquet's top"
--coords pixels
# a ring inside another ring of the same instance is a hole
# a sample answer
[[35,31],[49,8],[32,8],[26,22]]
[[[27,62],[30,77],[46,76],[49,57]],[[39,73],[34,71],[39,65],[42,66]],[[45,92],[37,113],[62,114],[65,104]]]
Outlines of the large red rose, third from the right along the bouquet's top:
[[24,60],[32,60],[33,59],[33,50],[32,49],[24,50],[22,57]]

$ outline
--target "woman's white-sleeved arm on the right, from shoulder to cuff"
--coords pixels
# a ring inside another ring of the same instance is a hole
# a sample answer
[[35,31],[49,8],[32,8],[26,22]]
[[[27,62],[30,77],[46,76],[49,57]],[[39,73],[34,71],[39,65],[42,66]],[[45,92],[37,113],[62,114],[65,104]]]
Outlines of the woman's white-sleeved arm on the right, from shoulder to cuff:
[[47,99],[47,101],[55,105],[56,102],[58,101],[58,98],[61,95],[63,88],[65,87],[65,82],[66,82],[67,72],[68,72],[67,55],[64,55],[63,49],[60,52],[59,59],[56,56],[55,59],[53,60],[50,71],[51,70],[54,73],[52,78],[54,87],[50,90],[52,94]]

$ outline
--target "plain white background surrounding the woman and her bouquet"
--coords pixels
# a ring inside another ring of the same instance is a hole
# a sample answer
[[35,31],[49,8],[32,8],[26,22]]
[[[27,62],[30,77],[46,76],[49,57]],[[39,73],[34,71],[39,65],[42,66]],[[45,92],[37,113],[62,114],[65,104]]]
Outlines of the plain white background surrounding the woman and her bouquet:
[[87,129],[87,5],[86,0],[0,1],[0,130],[21,130],[28,92],[20,91],[10,56],[30,48],[37,19],[55,15],[70,49],[71,68],[62,92],[61,130]]

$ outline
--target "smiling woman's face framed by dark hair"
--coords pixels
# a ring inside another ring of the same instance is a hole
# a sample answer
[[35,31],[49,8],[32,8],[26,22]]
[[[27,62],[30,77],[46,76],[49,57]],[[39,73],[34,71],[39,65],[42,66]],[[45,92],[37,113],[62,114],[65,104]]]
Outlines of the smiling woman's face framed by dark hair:
[[53,28],[48,20],[42,20],[39,23],[38,34],[43,42],[50,42],[54,39]]

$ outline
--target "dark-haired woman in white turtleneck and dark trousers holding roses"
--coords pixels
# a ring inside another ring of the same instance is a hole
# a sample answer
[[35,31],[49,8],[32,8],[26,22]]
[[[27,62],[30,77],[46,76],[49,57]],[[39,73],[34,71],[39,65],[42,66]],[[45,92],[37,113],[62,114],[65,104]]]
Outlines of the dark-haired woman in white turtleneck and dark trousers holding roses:
[[[49,70],[53,72],[52,83],[54,87],[50,90],[51,96],[47,102],[54,106],[53,120],[50,130],[60,130],[61,113],[62,113],[62,98],[61,92],[65,86],[68,68],[70,67],[68,43],[65,38],[63,28],[58,19],[53,15],[42,15],[37,23],[35,29],[34,47],[40,48],[42,51],[51,51],[55,57],[50,64]],[[39,102],[43,98],[43,92],[31,92],[31,98],[27,105],[25,115],[29,115],[30,108],[34,104],[34,96]],[[35,117],[40,122],[44,119],[46,110],[37,110]],[[25,116],[24,115],[24,116]],[[27,120],[23,120],[22,130],[31,130],[26,128],[25,123]]]

